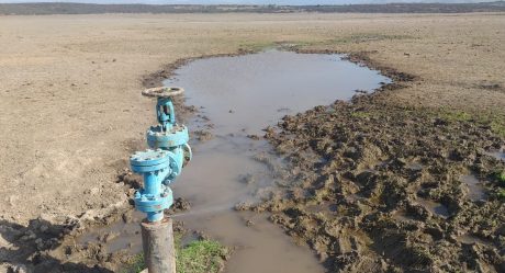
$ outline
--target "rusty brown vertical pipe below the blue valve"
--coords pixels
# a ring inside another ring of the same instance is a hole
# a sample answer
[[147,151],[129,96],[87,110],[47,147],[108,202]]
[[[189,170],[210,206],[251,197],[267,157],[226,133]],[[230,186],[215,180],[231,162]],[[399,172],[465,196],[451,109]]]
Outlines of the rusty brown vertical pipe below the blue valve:
[[142,243],[148,273],[176,273],[172,219],[143,221]]

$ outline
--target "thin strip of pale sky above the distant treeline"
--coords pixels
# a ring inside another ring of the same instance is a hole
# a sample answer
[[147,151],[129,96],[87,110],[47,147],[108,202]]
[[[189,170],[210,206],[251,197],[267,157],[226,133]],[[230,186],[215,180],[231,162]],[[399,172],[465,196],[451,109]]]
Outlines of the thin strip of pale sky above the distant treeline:
[[494,0],[0,0],[0,3],[22,2],[79,2],[79,3],[149,3],[149,4],[350,4],[350,3],[386,3],[386,2],[491,2]]

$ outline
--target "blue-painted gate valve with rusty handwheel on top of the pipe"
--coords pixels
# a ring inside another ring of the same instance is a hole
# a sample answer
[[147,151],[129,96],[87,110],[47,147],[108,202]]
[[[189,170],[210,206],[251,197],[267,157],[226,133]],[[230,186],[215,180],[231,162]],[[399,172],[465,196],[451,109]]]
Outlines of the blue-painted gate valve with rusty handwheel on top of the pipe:
[[147,214],[148,221],[164,218],[164,211],[173,204],[173,194],[168,186],[191,160],[189,134],[184,125],[176,123],[172,98],[183,92],[181,88],[152,88],[142,92],[157,98],[158,125],[147,130],[150,149],[137,151],[130,158],[132,171],[144,177],[144,187],[135,193],[135,207]]

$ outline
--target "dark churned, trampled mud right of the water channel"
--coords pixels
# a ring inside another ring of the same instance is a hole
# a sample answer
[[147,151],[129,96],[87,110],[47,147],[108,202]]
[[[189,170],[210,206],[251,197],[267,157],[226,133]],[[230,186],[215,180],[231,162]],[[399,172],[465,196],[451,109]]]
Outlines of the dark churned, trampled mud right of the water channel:
[[[485,123],[386,98],[337,101],[267,130],[293,182],[250,208],[270,212],[330,272],[505,272],[495,175],[505,163],[487,153],[504,138]],[[469,197],[469,173],[485,201]]]

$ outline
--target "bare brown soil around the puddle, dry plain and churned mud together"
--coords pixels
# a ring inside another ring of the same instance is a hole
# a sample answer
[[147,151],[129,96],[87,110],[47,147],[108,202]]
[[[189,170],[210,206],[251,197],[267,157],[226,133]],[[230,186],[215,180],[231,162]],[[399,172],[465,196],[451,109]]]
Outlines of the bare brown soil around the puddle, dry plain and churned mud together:
[[[503,24],[492,13],[2,16],[0,272],[112,272],[122,261],[100,250],[52,250],[131,209],[138,182],[117,175],[154,120],[143,77],[276,42],[358,53],[415,78],[268,130],[294,182],[288,198],[255,208],[332,271],[503,272],[504,205],[490,173],[504,162],[487,153],[503,137],[441,111],[505,113]],[[467,198],[469,172],[485,202]]]

